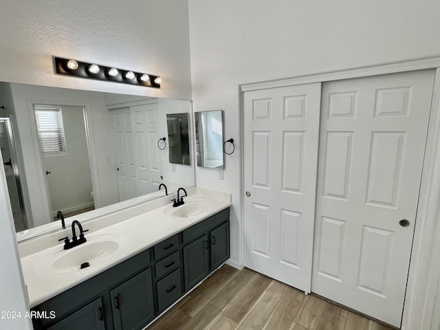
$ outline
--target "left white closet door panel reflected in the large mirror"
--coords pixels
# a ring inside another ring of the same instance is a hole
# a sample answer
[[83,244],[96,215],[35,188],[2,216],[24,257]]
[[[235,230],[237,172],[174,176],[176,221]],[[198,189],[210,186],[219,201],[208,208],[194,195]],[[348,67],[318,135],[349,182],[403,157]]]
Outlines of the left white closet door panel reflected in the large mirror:
[[109,111],[115,136],[115,162],[118,175],[119,200],[137,196],[135,146],[130,108]]

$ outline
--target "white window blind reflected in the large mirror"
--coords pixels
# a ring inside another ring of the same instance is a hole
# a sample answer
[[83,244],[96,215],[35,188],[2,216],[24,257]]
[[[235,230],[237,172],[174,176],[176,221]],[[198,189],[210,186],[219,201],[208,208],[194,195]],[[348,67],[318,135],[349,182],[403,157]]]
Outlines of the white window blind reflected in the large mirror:
[[35,107],[35,116],[44,155],[65,154],[65,136],[61,109]]

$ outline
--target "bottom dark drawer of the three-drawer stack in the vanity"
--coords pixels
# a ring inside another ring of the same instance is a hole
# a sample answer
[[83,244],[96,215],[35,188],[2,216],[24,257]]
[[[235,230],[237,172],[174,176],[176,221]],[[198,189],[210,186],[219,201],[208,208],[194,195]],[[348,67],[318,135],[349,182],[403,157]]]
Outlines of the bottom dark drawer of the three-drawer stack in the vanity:
[[157,307],[159,313],[181,297],[180,268],[157,282]]

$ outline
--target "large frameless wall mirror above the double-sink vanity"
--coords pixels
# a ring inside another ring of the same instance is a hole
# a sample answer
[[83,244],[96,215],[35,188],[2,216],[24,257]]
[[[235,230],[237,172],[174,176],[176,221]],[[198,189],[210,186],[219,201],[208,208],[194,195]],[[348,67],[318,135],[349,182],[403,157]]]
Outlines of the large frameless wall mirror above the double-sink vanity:
[[58,210],[70,217],[66,224],[83,222],[163,198],[159,184],[168,193],[195,186],[190,139],[185,166],[172,167],[168,143],[158,143],[169,115],[191,115],[188,100],[0,83],[0,105],[18,241],[61,230]]

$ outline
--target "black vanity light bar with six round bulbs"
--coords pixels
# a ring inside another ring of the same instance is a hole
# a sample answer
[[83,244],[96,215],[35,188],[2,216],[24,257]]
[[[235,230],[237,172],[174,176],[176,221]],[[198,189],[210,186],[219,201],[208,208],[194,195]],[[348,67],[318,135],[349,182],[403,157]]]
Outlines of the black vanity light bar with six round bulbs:
[[81,78],[113,81],[144,87],[160,88],[162,79],[153,74],[144,74],[131,70],[118,69],[116,67],[105,67],[95,63],[86,63],[72,58],[54,57],[55,70],[57,74],[66,74]]

